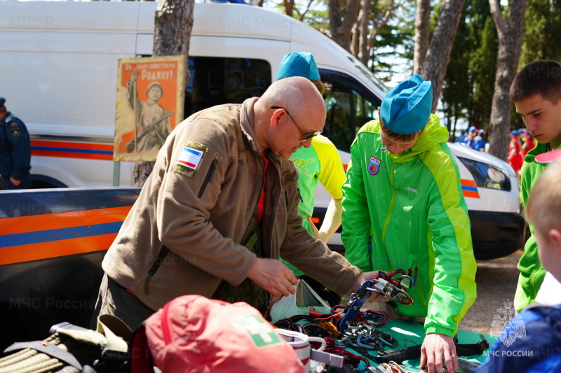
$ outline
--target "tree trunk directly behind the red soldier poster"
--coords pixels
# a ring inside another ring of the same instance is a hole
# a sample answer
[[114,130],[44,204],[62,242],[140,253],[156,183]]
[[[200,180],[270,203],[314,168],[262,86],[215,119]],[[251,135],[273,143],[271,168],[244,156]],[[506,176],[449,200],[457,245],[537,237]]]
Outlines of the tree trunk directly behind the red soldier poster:
[[[184,87],[189,83],[189,41],[193,29],[194,0],[160,0],[154,17],[154,50],[152,55],[184,55]],[[154,169],[154,162],[137,161],[133,186],[142,187]]]

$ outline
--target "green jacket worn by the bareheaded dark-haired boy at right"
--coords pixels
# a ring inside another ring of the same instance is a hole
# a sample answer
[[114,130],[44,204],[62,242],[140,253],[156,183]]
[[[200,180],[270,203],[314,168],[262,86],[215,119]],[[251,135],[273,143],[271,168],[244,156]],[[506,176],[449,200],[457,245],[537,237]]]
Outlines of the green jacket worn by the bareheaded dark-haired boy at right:
[[[561,148],[561,146],[557,147]],[[520,184],[522,187],[522,202],[526,204],[532,186],[538,180],[539,176],[546,169],[547,164],[537,163],[536,155],[546,153],[549,150],[548,144],[536,143],[536,147],[531,149],[524,158],[524,164],[520,170]],[[538,257],[538,246],[534,238],[534,225],[528,224],[530,229],[530,237],[528,237],[524,246],[524,254],[518,262],[520,276],[518,277],[518,286],[516,295],[514,296],[514,308],[516,311],[522,311],[529,304],[533,303],[538,295],[538,290],[546,276],[546,269],[543,268]]]

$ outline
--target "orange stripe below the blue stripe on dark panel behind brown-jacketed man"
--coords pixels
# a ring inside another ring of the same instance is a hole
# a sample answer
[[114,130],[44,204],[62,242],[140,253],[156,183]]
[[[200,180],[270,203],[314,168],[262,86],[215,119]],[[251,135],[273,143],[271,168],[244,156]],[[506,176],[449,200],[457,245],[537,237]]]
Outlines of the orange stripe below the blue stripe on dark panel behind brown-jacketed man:
[[0,265],[107,250],[116,233],[0,248]]

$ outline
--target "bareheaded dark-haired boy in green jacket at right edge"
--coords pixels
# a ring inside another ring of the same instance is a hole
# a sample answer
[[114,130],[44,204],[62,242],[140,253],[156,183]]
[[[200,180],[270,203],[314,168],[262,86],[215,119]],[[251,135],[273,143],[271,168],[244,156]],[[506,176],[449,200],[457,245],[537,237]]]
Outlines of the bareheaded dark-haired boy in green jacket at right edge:
[[[520,170],[522,202],[526,204],[532,186],[546,164],[535,162],[536,155],[561,146],[561,64],[557,61],[537,60],[527,64],[513,80],[511,101],[536,139],[536,147],[530,150]],[[514,307],[522,310],[534,302],[546,276],[538,258],[538,246],[534,239],[534,225],[528,223],[530,234],[524,254],[518,262],[520,276],[514,297]]]

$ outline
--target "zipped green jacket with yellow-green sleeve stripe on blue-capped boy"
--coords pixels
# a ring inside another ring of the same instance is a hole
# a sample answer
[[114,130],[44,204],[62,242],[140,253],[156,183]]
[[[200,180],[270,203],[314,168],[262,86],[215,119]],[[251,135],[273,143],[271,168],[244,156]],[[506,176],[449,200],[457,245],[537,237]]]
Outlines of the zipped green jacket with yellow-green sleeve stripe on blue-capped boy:
[[426,316],[426,333],[452,337],[475,302],[475,258],[460,175],[448,132],[431,115],[415,145],[391,154],[379,121],[368,122],[351,146],[343,186],[346,258],[365,271],[413,269],[414,303],[407,316]]

